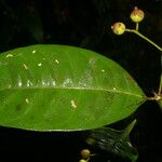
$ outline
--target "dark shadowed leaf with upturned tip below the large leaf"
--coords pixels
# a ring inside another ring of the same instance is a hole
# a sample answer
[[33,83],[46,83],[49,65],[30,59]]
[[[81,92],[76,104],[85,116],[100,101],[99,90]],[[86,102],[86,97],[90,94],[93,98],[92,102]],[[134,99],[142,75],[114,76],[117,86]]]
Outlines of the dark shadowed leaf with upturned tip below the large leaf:
[[135,122],[136,120],[123,131],[117,131],[110,127],[93,130],[90,132],[86,143],[107,152],[111,152],[114,156],[135,162],[138,158],[138,152],[130,141],[130,133]]

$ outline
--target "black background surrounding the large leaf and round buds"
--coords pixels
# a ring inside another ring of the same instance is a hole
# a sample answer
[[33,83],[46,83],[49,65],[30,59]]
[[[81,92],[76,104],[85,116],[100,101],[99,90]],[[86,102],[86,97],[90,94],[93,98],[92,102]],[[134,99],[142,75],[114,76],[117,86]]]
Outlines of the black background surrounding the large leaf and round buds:
[[[161,45],[161,0],[0,0],[0,52],[38,43],[90,49],[119,63],[151,96],[159,86],[160,52],[133,33],[116,36],[110,29],[119,21],[134,28],[130,13],[136,5],[146,14],[139,30]],[[134,116],[137,124],[131,139],[138,149],[138,162],[162,162],[160,108],[147,102]],[[87,147],[83,134],[0,127],[0,161],[77,162],[80,150]],[[121,161],[106,154],[94,159],[108,160]]]

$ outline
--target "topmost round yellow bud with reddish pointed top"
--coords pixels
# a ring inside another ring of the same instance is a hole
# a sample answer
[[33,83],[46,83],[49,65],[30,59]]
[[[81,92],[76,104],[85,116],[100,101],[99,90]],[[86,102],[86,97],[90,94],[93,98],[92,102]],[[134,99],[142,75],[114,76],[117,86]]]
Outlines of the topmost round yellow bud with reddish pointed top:
[[143,10],[139,10],[137,6],[134,8],[130,17],[134,23],[139,23],[144,19],[145,13]]

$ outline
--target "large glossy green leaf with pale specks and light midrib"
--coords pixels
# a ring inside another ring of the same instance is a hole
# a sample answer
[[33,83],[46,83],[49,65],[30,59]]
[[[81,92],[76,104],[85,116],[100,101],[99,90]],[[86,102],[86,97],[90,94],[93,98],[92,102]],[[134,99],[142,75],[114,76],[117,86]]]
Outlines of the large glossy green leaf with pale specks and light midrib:
[[0,125],[77,131],[122,120],[145,94],[113,60],[66,45],[32,45],[0,55]]

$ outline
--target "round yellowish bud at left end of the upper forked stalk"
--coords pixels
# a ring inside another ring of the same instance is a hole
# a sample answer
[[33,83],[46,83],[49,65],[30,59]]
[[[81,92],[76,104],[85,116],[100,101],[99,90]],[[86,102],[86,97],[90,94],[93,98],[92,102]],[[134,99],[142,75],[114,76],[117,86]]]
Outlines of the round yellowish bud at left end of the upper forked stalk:
[[111,26],[111,29],[116,35],[123,35],[125,31],[125,25],[123,23],[114,23]]

